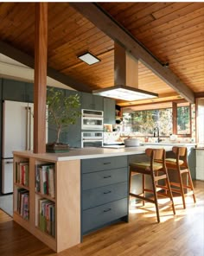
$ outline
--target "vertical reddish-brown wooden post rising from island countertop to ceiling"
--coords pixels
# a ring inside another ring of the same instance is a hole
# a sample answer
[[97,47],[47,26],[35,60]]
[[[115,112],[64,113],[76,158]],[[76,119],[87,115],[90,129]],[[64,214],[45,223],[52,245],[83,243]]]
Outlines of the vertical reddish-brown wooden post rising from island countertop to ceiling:
[[34,153],[46,152],[48,3],[35,3]]

